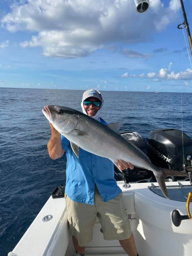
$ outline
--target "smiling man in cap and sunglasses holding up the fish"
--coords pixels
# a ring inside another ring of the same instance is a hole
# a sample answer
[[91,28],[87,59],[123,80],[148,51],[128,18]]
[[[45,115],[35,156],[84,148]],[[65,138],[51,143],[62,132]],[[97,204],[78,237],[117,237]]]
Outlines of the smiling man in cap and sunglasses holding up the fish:
[[[99,118],[103,98],[97,89],[83,93],[83,113],[107,125]],[[65,200],[69,231],[73,238],[75,255],[84,256],[84,250],[93,237],[93,226],[99,218],[106,240],[119,240],[129,256],[137,256],[130,222],[123,203],[122,191],[114,179],[113,163],[103,157],[79,148],[79,158],[73,153],[70,142],[51,126],[47,144],[52,159],[67,155]],[[92,143],[90,141],[90,143]],[[120,170],[133,165],[117,160]]]

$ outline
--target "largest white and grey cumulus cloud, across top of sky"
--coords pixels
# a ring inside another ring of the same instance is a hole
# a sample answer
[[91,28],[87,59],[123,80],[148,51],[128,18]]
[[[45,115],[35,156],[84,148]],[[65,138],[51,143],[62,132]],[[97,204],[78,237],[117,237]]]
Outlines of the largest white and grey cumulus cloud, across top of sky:
[[[34,33],[20,43],[21,47],[41,47],[47,57],[85,57],[114,43],[146,41],[154,30],[175,21],[174,1],[164,6],[160,0],[151,0],[147,15],[136,13],[132,0],[13,1],[1,23],[11,32]],[[141,24],[145,24],[142,29]],[[122,53],[129,58],[150,57],[129,49]]]

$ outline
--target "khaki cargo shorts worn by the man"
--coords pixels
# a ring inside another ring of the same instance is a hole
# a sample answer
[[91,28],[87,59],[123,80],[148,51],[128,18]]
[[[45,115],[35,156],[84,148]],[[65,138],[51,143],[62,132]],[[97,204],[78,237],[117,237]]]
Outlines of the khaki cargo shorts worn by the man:
[[65,194],[69,231],[79,246],[87,246],[93,239],[93,226],[99,218],[105,240],[124,240],[131,236],[131,227],[121,192],[115,198],[103,202],[95,187],[94,205],[77,203]]

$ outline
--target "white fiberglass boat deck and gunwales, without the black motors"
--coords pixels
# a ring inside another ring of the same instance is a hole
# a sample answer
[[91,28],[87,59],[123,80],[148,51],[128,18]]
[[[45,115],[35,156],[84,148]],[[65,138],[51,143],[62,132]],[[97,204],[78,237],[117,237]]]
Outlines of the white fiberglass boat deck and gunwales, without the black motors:
[[[156,193],[151,183],[124,184],[117,181],[123,191],[127,214],[131,222],[137,251],[140,256],[190,256],[192,251],[192,220],[186,219],[174,226],[171,213],[179,209],[186,215],[186,202],[169,200]],[[189,181],[166,182],[168,192],[184,196],[184,189],[192,191]],[[154,183],[158,186],[158,183]],[[179,191],[179,193],[178,193]],[[192,211],[192,205],[190,205]],[[51,218],[52,217],[52,218]],[[69,234],[64,198],[50,197],[29,229],[9,256],[71,256],[74,246]],[[95,221],[93,241],[86,247],[86,255],[126,255],[119,241],[103,239],[99,220]]]

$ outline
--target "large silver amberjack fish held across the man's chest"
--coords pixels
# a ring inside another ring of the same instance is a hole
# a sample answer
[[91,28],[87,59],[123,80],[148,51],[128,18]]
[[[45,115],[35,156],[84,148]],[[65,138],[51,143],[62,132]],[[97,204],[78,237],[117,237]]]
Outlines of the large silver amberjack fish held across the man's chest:
[[47,105],[42,111],[54,128],[70,141],[77,157],[81,147],[95,155],[109,158],[116,166],[116,160],[122,159],[134,166],[151,170],[166,198],[169,197],[165,178],[187,176],[187,173],[154,166],[145,153],[119,134],[117,124],[104,125],[69,107]]

